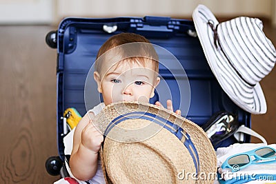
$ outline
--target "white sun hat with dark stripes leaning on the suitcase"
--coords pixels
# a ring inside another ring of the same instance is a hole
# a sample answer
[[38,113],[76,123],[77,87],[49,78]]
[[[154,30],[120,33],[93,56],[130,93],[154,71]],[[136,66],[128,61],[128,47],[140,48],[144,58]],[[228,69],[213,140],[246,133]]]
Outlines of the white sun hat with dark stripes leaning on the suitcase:
[[206,6],[193,12],[199,41],[221,88],[240,108],[266,113],[259,81],[274,67],[276,52],[257,18],[237,17],[219,23]]

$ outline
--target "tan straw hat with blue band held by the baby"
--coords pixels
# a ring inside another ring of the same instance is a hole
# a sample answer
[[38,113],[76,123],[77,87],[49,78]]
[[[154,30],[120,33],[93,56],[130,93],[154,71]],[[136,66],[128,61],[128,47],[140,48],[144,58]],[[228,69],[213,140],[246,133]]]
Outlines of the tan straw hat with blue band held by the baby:
[[105,135],[106,183],[213,183],[212,144],[201,127],[174,112],[148,103],[114,103],[93,123]]

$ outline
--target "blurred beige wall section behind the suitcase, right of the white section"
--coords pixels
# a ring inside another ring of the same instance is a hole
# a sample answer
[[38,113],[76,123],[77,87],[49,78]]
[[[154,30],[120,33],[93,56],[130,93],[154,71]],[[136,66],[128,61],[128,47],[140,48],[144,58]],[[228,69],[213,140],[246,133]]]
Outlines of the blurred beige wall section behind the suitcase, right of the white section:
[[218,16],[271,18],[273,14],[273,0],[59,0],[56,18],[144,15],[191,17],[199,3],[206,5]]

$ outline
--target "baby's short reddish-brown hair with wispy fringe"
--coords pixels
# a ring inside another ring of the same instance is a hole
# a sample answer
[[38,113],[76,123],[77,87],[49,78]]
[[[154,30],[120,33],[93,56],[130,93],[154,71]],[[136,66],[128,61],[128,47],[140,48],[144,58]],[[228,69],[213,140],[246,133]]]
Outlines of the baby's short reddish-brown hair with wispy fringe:
[[[121,60],[117,61],[116,65],[127,62],[130,65],[138,63],[139,65],[146,66],[146,63],[152,62],[152,70],[157,74],[159,71],[158,55],[153,48],[150,41],[145,37],[134,34],[134,33],[120,33],[110,37],[99,49],[97,54],[97,59],[95,61],[95,71],[99,72],[101,70],[101,63],[104,59],[99,59],[108,50],[116,48],[119,45],[124,45],[126,43],[148,43],[148,44],[136,44],[134,47],[121,47],[117,54],[120,55]],[[132,56],[132,57],[128,57]],[[135,56],[135,57],[133,57]],[[137,56],[137,57],[136,57]]]

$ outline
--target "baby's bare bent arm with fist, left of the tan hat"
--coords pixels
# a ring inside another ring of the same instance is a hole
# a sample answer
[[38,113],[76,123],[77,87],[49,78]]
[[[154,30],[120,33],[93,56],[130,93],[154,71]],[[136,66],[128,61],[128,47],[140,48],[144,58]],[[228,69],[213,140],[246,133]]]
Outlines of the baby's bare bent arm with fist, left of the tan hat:
[[90,112],[89,116],[88,114],[83,116],[76,127],[70,157],[72,174],[82,181],[95,176],[98,152],[103,141],[103,135],[92,124],[94,114]]

